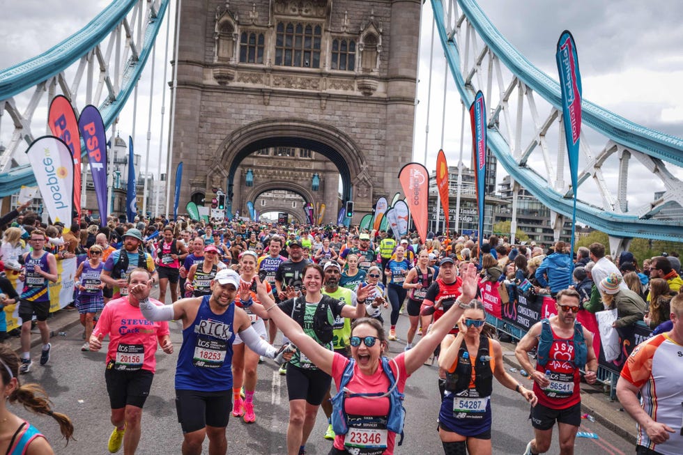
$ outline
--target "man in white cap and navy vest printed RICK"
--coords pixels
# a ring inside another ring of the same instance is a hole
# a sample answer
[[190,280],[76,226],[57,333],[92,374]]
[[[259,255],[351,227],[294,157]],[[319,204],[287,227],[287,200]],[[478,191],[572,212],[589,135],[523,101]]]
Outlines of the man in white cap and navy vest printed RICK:
[[245,311],[234,304],[238,289],[240,302],[249,307],[253,303],[249,284],[240,285],[237,272],[226,268],[216,273],[211,295],[181,299],[164,307],[140,303],[150,321],[183,323],[183,346],[176,367],[176,411],[183,429],[183,455],[201,454],[207,437],[210,454],[227,453],[225,430],[232,410],[235,335],[239,333],[259,355],[274,358],[277,354],[252,328]]

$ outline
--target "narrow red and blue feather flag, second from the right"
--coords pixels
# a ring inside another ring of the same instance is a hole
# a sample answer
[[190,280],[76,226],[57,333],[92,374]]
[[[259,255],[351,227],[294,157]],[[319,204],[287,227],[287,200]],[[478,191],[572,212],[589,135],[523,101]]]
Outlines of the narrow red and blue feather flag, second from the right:
[[479,212],[479,256],[481,256],[482,238],[484,238],[484,178],[486,177],[486,103],[482,91],[477,92],[475,101],[470,106],[470,122],[472,123],[472,161],[475,166],[477,212]]

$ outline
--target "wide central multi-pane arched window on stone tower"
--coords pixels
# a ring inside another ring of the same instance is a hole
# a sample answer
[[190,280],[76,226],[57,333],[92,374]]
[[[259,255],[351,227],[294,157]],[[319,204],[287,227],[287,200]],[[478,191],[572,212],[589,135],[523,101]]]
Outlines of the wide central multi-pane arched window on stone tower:
[[323,28],[279,22],[275,37],[275,65],[320,68]]

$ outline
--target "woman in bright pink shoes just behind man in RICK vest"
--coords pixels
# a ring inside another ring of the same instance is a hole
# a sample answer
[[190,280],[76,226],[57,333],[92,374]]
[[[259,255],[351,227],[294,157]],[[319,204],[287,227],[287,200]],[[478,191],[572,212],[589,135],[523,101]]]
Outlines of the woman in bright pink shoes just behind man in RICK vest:
[[[255,252],[250,249],[242,253],[240,257],[240,278],[243,283],[247,283],[250,286],[250,297],[254,302],[259,302],[256,298],[256,282],[254,277],[256,276],[256,261],[258,260]],[[268,292],[272,292],[270,284],[266,283],[266,289]],[[245,302],[249,300],[248,298],[243,299]],[[250,320],[252,321],[252,327],[258,332],[259,336],[263,339],[267,339],[266,336],[266,324],[262,318],[256,316],[252,313],[250,308],[244,308],[240,302],[240,298],[235,299],[235,304],[247,313]],[[232,409],[232,415],[235,417],[244,416],[244,421],[247,424],[256,422],[256,415],[254,414],[254,390],[256,390],[256,367],[259,365],[259,355],[254,353],[253,350],[247,348],[245,344],[240,339],[239,334],[235,335],[235,341],[233,342],[233,355],[232,355],[232,392],[234,406]],[[245,399],[242,399],[242,385],[244,385]]]

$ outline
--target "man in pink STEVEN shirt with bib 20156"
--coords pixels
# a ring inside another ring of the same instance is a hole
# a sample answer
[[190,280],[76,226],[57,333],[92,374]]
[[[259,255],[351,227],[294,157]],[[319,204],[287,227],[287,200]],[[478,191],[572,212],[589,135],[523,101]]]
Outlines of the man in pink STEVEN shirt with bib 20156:
[[[112,454],[121,449],[122,443],[124,454],[135,454],[140,440],[142,406],[156,368],[157,342],[164,353],[173,353],[168,323],[147,321],[140,311],[139,302],[149,297],[151,288],[147,270],[136,268],[130,272],[130,293],[107,303],[90,338],[90,350],[100,350],[102,339],[109,334],[105,380],[114,424],[109,437]],[[158,300],[149,300],[163,306]]]

